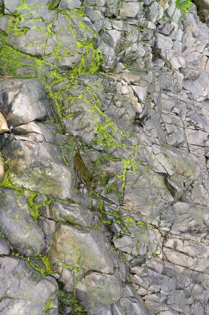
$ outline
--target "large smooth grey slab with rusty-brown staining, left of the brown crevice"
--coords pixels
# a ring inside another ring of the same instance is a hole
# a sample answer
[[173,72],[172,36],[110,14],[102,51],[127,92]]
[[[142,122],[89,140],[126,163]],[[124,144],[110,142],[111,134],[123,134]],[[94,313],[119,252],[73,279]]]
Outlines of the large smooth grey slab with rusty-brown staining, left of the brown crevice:
[[59,146],[14,140],[6,143],[2,154],[8,162],[9,177],[18,187],[63,200],[76,199],[73,170],[63,161]]

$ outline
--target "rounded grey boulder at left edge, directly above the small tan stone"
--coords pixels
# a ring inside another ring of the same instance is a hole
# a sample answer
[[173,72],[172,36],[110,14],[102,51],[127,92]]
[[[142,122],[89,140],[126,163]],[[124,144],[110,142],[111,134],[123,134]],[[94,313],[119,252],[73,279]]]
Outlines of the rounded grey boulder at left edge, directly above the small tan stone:
[[[37,78],[2,79],[0,80],[0,91],[0,110],[9,127],[17,127],[46,117],[44,87]],[[4,127],[4,130],[7,131],[5,121],[3,122],[2,128]]]

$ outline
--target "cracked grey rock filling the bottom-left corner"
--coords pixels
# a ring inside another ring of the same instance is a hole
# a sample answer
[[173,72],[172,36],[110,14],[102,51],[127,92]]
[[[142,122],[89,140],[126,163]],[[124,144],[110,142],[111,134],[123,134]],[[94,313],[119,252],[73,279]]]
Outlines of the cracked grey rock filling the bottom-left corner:
[[42,278],[28,262],[17,257],[0,257],[0,266],[2,315],[59,314],[54,278]]

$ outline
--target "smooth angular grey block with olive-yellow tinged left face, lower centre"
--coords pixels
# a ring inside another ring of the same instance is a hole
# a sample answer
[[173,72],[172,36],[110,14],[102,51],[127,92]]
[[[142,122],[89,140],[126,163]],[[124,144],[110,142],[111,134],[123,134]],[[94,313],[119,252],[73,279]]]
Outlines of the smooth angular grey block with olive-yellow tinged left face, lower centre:
[[55,265],[82,267],[113,273],[113,260],[106,237],[97,228],[79,228],[57,224],[50,253]]

